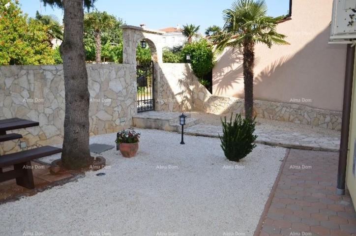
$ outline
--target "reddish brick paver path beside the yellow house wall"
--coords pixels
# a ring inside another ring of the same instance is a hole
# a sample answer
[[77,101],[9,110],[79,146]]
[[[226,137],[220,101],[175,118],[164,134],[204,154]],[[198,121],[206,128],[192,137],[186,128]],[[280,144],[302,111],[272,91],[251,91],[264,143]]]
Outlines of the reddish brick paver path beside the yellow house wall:
[[291,149],[259,236],[356,236],[349,194],[335,195],[337,152]]

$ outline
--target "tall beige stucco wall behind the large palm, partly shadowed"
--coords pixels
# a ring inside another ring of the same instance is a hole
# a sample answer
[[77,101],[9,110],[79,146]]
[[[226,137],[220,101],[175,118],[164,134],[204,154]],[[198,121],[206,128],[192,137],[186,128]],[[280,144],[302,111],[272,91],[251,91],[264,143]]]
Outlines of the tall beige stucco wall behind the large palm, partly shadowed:
[[[277,27],[291,45],[256,46],[255,99],[342,111],[346,45],[328,44],[331,12],[332,0],[293,0],[292,20]],[[241,62],[237,50],[218,57],[213,94],[244,96]]]

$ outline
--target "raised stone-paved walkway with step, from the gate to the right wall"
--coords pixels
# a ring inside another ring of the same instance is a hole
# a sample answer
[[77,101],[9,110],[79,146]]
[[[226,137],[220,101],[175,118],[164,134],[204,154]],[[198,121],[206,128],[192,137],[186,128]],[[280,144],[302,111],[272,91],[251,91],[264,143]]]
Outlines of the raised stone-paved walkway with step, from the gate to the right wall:
[[[186,134],[218,137],[222,133],[220,117],[223,115],[185,113]],[[180,131],[178,112],[144,112],[134,116],[136,127]],[[255,134],[257,143],[308,150],[338,151],[340,132],[303,124],[258,119]]]

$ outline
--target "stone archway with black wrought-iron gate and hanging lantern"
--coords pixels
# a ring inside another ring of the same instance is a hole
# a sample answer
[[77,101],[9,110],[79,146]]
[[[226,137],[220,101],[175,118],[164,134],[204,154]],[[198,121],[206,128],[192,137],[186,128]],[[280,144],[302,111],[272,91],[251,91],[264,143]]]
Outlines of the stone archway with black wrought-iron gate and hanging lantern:
[[[137,111],[145,112],[155,110],[158,103],[154,99],[159,97],[157,85],[160,80],[160,64],[162,61],[162,34],[164,32],[136,26],[123,28],[123,63],[137,67]],[[144,41],[151,51],[151,63],[147,65],[136,64],[136,47]]]

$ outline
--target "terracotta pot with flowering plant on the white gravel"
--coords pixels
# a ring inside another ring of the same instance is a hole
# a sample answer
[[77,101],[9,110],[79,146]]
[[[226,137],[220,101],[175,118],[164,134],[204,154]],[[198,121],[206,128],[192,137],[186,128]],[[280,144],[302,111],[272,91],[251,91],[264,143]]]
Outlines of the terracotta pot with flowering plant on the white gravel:
[[116,144],[124,157],[133,157],[139,149],[140,133],[133,129],[119,131],[116,138]]

